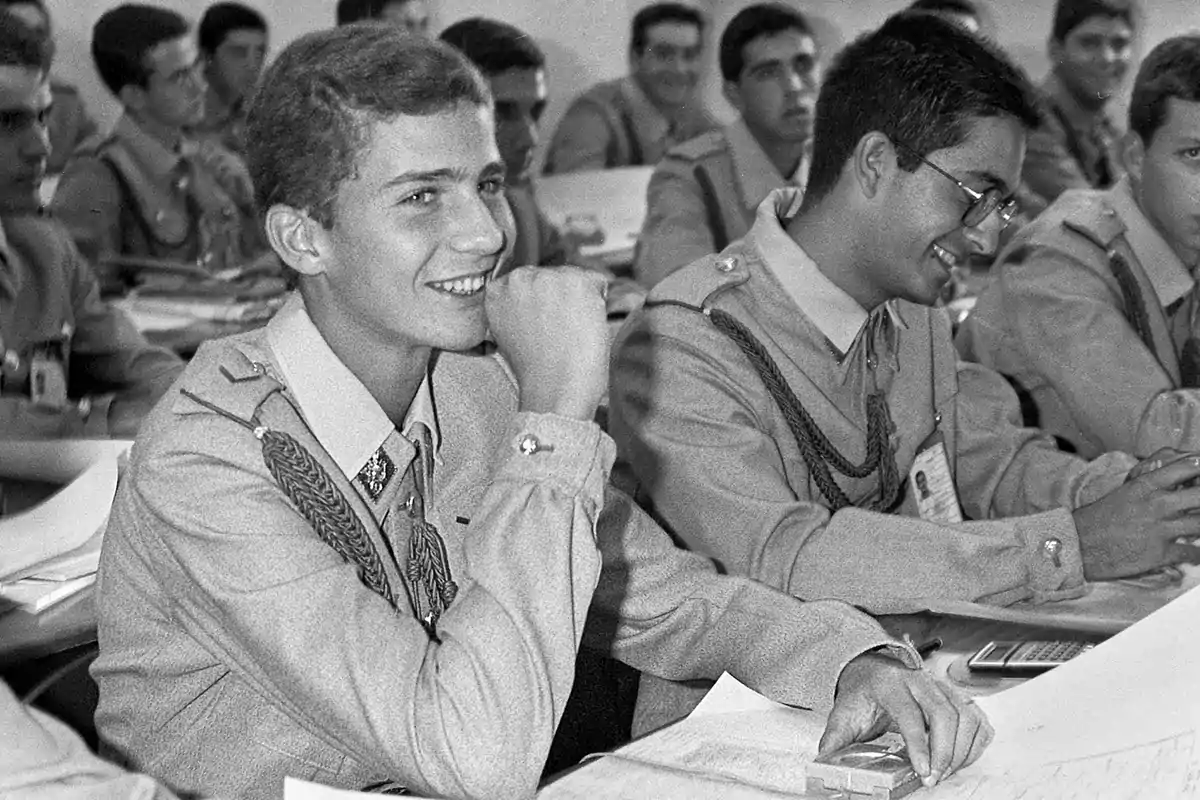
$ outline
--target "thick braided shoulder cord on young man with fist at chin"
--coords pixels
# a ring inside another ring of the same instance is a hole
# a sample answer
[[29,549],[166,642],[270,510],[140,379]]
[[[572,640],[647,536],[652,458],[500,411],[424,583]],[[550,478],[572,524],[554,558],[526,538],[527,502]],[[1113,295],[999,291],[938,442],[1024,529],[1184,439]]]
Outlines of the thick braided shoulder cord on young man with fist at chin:
[[358,567],[359,578],[392,608],[400,610],[392,594],[383,560],[376,551],[366,528],[329,473],[304,446],[288,433],[272,431],[252,421],[241,420],[222,408],[200,399],[186,389],[180,393],[204,408],[233,420],[254,433],[263,443],[263,461],[292,504],[308,521],[320,541]]

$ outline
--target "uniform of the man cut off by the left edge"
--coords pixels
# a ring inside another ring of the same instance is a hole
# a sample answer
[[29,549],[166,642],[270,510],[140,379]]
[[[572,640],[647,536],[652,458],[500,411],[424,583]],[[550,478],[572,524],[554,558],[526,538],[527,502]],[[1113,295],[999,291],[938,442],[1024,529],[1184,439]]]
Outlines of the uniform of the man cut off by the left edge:
[[67,231],[37,216],[0,229],[0,355],[10,439],[132,437],[110,417],[140,420],[184,368],[100,299]]

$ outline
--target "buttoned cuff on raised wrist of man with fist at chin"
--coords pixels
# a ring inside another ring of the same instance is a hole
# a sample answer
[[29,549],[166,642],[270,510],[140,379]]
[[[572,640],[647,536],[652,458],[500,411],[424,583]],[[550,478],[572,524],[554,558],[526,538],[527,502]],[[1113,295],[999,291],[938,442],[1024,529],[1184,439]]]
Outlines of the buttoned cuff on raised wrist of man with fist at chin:
[[556,485],[568,494],[604,497],[617,446],[592,420],[523,411],[509,423],[496,480]]

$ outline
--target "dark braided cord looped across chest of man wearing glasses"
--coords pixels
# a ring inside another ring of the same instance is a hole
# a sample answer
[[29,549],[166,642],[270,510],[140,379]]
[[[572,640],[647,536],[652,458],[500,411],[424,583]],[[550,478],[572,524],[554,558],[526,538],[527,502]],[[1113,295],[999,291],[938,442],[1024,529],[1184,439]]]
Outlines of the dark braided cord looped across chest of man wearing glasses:
[[880,473],[880,493],[872,511],[889,511],[900,494],[900,476],[895,464],[895,453],[889,439],[890,419],[887,399],[883,392],[872,392],[866,398],[866,455],[863,463],[853,464],[824,435],[816,421],[808,413],[800,399],[787,385],[779,365],[770,357],[754,333],[731,314],[718,308],[707,309],[706,315],[713,324],[730,337],[738,349],[745,354],[755,372],[767,386],[779,410],[787,421],[787,427],[796,438],[809,473],[829,503],[832,511],[840,511],[853,505],[841,487],[834,481],[830,464],[842,475],[863,479],[871,473]]

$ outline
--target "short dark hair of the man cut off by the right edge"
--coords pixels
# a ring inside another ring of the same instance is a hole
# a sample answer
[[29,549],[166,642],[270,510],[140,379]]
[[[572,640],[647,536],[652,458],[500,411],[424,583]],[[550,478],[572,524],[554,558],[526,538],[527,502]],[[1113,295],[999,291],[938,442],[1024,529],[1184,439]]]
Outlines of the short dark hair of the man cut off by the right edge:
[[1166,121],[1166,101],[1200,102],[1200,35],[1160,42],[1141,62],[1129,101],[1129,130],[1148,145]]

